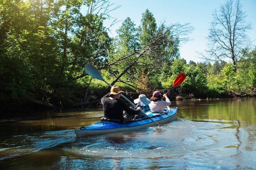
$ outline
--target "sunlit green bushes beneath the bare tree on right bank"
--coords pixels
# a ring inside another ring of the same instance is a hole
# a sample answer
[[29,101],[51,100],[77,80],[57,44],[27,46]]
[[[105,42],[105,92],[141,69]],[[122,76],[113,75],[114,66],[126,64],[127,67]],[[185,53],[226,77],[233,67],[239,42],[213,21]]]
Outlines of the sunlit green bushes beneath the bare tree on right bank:
[[220,88],[217,90],[219,94],[225,91],[229,94],[233,93],[250,93],[255,90],[255,50],[250,53],[244,51],[245,58],[236,65],[237,71],[234,72],[232,63],[222,62],[221,66],[216,70],[216,65],[210,68],[207,74],[207,84],[209,88]]

